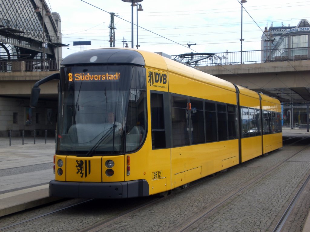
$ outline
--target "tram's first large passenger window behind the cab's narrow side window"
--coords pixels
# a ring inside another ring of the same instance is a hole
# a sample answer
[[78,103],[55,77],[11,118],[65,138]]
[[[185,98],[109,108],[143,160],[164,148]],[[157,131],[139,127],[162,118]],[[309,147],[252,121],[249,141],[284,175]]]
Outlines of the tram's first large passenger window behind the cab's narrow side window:
[[189,122],[187,98],[172,96],[172,140],[173,146],[189,145]]

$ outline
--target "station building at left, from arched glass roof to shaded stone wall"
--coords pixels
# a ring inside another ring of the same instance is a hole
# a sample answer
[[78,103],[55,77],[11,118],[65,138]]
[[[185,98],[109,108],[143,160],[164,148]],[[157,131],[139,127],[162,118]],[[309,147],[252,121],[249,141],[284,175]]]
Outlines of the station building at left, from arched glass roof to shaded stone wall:
[[[55,135],[57,97],[41,99],[42,108],[32,109],[23,88],[58,71],[61,47],[66,46],[61,43],[60,24],[60,15],[51,13],[45,0],[2,0],[0,136],[44,135],[45,131]],[[8,94],[9,86],[15,89]]]

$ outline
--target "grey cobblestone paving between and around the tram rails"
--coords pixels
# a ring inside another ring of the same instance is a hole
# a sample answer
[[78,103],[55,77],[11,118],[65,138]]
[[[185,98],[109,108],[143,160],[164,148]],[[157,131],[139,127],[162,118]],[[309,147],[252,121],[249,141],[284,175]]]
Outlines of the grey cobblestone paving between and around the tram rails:
[[[278,162],[290,157],[299,149],[301,149],[299,145],[290,146],[245,162],[193,187],[174,191],[168,197],[156,201],[149,207],[139,209],[128,217],[122,217],[91,231],[176,231],[206,208],[215,205],[221,198]],[[215,212],[190,227],[188,231],[271,231],[283,214],[286,204],[292,200],[297,188],[309,174],[309,153],[310,149],[304,150],[286,161],[275,171],[244,189]],[[286,231],[301,231],[310,204],[308,191],[309,186],[303,193],[305,198],[296,204],[296,210],[290,217],[292,223],[289,223],[290,227],[286,227]],[[95,200],[78,209],[52,214],[39,221],[29,222],[22,227],[6,231],[79,231],[151,198],[153,197]],[[3,219],[10,221],[13,220],[11,217]]]

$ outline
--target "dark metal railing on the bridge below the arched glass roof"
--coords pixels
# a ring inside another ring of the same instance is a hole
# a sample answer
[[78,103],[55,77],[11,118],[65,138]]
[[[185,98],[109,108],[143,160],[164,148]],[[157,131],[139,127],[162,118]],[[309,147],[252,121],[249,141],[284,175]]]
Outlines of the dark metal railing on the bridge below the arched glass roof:
[[0,61],[0,72],[59,71],[62,60],[7,60]]

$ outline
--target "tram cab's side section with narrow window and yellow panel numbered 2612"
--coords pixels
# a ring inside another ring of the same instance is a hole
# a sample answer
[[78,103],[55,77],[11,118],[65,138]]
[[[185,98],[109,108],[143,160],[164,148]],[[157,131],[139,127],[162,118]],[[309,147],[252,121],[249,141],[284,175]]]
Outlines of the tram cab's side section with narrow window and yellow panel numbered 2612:
[[171,126],[168,92],[151,91],[152,194],[171,189]]

